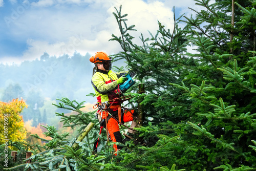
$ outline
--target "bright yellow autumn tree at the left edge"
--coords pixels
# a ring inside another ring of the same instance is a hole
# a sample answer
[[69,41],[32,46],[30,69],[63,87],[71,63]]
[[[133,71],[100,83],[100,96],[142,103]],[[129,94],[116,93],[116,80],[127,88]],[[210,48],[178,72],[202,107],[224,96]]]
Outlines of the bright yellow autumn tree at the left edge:
[[[23,118],[20,116],[24,108],[27,108],[27,104],[23,99],[13,99],[11,102],[0,101],[0,125],[2,125],[0,129],[0,144],[5,139],[23,141],[26,138],[27,131],[24,127]],[[8,137],[6,137],[6,134]]]

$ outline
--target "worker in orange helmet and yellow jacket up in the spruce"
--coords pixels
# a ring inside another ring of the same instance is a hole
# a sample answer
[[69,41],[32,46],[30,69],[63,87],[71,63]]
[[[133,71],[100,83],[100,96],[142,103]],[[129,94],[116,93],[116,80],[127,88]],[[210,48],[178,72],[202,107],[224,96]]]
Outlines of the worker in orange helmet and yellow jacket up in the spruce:
[[[122,101],[120,97],[122,94],[118,86],[127,80],[125,77],[127,72],[114,73],[111,71],[112,60],[105,52],[95,53],[94,56],[90,57],[90,61],[95,64],[92,86],[97,98],[98,118],[101,123],[106,122],[105,128],[107,130],[107,136],[109,134],[113,142],[125,143],[129,141],[130,138],[125,137],[122,140],[118,123],[132,121],[127,135],[133,136],[133,128],[136,126],[135,117],[137,116],[135,110],[121,106]],[[114,144],[113,147],[116,152],[121,149],[121,146],[116,144]]]

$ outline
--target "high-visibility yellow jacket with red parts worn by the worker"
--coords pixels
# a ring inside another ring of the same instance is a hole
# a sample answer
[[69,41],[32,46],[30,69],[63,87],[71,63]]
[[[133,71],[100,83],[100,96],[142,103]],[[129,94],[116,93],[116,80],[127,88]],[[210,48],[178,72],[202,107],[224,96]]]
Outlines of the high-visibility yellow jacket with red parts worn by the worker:
[[[92,85],[96,93],[97,102],[106,102],[113,100],[115,98],[120,97],[120,91],[118,90],[117,79],[122,75],[125,75],[126,72],[123,73],[114,73],[113,71],[103,71],[98,70],[92,77]],[[113,105],[120,105],[119,100],[115,100]]]

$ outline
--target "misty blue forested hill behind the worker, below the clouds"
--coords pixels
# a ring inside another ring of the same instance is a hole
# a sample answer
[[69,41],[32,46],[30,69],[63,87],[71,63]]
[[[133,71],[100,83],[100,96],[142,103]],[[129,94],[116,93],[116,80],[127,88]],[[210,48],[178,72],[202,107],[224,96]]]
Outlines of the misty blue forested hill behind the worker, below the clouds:
[[20,65],[0,65],[0,101],[8,102],[13,98],[22,98],[28,108],[22,113],[24,121],[32,120],[33,125],[47,123],[56,125],[59,117],[55,112],[61,111],[52,103],[56,98],[68,97],[78,102],[93,105],[95,97],[91,86],[93,63],[91,54],[59,57],[44,53],[39,59],[24,61]]

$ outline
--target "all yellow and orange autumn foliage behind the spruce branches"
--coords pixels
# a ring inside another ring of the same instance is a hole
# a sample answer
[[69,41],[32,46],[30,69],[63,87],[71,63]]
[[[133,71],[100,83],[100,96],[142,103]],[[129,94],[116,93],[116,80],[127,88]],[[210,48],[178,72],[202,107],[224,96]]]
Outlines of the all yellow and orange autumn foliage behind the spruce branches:
[[[82,108],[82,111],[93,111],[93,105],[88,103],[86,106]],[[30,136],[31,134],[37,134],[40,138],[51,140],[50,137],[46,137],[44,132],[46,129],[42,126],[40,126],[40,123],[34,127],[32,126],[32,120],[28,120],[24,123],[23,117],[20,116],[20,113],[24,110],[24,108],[27,108],[28,105],[26,102],[22,99],[19,100],[13,99],[11,102],[1,102],[0,101],[0,144],[3,144],[3,142],[6,142],[6,139],[18,142],[25,141],[28,144],[39,144],[43,145],[45,142],[41,142],[41,140],[36,139],[35,137]],[[70,113],[67,115],[75,114]],[[8,119],[6,119],[8,118]],[[8,137],[5,137],[5,128],[4,124],[5,121],[7,121],[7,127],[8,130]],[[60,122],[58,125],[59,133],[65,133],[69,132],[71,135],[74,134],[75,130],[71,129],[71,127],[65,127],[63,128],[63,123]]]

